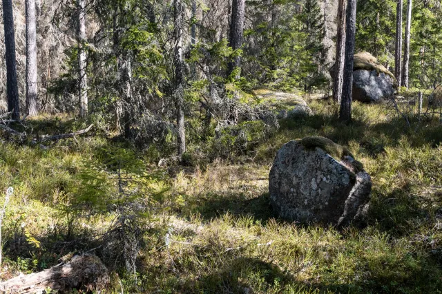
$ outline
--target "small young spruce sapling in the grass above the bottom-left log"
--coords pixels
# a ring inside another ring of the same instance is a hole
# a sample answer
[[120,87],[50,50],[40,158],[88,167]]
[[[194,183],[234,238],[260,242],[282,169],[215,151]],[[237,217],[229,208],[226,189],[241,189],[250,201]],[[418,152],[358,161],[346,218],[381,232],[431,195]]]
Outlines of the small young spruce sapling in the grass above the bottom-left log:
[[126,272],[134,274],[142,234],[151,220],[151,209],[159,208],[160,194],[151,189],[154,177],[146,173],[133,151],[111,147],[97,155],[100,162],[84,162],[77,174],[67,217],[104,218],[111,214],[102,254],[108,262],[124,264]]

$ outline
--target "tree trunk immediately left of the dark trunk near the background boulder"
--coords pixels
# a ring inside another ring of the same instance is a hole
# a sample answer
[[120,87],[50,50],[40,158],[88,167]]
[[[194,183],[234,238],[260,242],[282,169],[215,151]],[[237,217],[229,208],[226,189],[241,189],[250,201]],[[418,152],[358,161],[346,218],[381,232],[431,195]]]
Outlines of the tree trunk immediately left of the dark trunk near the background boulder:
[[336,39],[336,62],[334,65],[333,98],[340,103],[343,93],[343,76],[345,60],[345,0],[338,1],[338,35]]

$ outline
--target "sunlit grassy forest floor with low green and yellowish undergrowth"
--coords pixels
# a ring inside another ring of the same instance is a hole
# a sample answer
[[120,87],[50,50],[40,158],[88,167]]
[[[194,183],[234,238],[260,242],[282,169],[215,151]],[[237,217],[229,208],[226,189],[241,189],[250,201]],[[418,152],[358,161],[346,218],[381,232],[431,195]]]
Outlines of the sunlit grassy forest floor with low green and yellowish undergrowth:
[[[309,106],[314,116],[280,120],[278,132],[247,154],[187,167],[157,167],[157,151],[137,151],[98,131],[48,150],[0,143],[0,191],[15,189],[3,222],[0,279],[96,246],[110,216],[72,218],[64,208],[81,190],[77,175],[117,145],[156,175],[147,185],[166,209],[146,220],[137,277],[120,273],[109,293],[441,293],[439,117],[410,116],[407,127],[385,105],[356,102],[352,124],[344,125],[332,101],[309,99]],[[85,125],[68,116],[33,121],[45,134]],[[373,180],[365,229],[305,227],[273,216],[273,157],[304,136],[330,138],[363,162]]]

